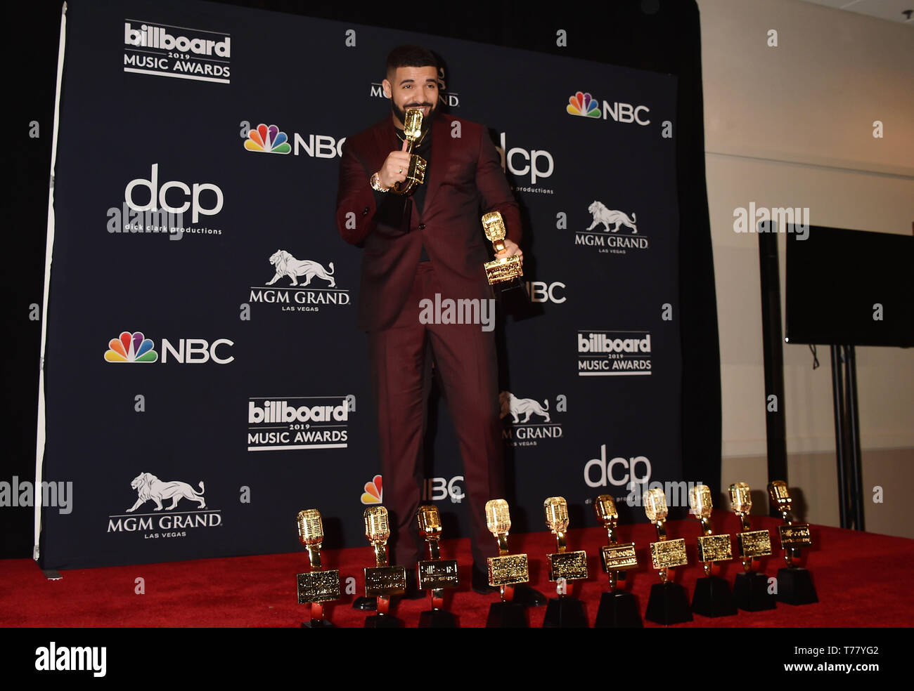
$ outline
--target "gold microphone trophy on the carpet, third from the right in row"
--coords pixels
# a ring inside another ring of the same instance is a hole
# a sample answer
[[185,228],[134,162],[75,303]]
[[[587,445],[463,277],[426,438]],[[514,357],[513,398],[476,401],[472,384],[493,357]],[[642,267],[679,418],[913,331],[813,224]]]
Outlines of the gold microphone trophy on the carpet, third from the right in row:
[[698,560],[705,567],[705,576],[696,581],[692,594],[692,612],[706,617],[725,617],[737,613],[730,584],[720,577],[720,562],[733,559],[733,545],[727,533],[714,535],[711,529],[711,488],[698,485],[688,491],[688,505],[701,521],[698,537]]

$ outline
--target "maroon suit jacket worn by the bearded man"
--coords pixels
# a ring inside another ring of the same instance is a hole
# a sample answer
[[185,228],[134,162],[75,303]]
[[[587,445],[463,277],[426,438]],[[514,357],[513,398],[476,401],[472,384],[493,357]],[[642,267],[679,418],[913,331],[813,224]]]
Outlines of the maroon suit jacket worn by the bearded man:
[[[460,136],[452,136],[454,123]],[[429,136],[429,135],[427,135]],[[441,298],[491,298],[484,262],[492,243],[481,216],[500,211],[507,236],[521,240],[520,212],[488,131],[475,122],[437,113],[431,125],[431,153],[421,213],[413,209],[409,226],[401,223],[403,197],[383,196],[369,178],[394,150],[397,138],[390,117],[345,141],[336,194],[336,227],[343,239],[362,246],[358,327],[386,329],[403,309],[425,245]],[[389,197],[389,198],[388,198]],[[381,199],[376,204],[376,198]]]

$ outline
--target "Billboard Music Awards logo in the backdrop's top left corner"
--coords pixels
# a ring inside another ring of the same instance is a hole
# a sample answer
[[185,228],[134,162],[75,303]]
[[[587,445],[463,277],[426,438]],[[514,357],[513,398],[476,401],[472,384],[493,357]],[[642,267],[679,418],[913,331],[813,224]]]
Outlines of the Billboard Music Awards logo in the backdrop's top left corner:
[[123,45],[124,72],[229,83],[228,34],[127,19]]

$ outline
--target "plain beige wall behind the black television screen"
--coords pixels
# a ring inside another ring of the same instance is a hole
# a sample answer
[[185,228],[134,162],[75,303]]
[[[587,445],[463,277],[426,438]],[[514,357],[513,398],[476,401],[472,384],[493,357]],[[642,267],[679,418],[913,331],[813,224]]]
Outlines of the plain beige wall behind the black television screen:
[[[813,225],[909,235],[914,222],[914,30],[799,0],[697,0],[701,13],[708,206],[717,280],[724,483],[766,479],[759,246],[734,209],[809,207]],[[769,47],[769,30],[778,32]],[[882,120],[884,137],[873,137]],[[780,238],[781,299],[784,238]],[[813,371],[784,345],[790,482],[806,518],[837,525],[827,346]],[[867,515],[895,516],[914,487],[914,351],[857,349]],[[866,450],[902,449],[891,466]],[[831,452],[831,453],[817,453]],[[887,470],[890,469],[890,473]],[[886,487],[885,505],[868,499]],[[914,533],[911,533],[914,537]]]

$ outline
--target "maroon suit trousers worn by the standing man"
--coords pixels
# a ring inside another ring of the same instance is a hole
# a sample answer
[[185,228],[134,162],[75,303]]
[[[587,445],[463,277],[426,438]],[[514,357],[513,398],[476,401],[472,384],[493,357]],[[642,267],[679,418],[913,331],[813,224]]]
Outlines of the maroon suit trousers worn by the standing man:
[[416,512],[433,358],[460,445],[473,561],[485,568],[485,558],[497,554],[485,527],[485,502],[505,492],[494,331],[484,331],[480,324],[420,323],[420,300],[434,302],[441,292],[431,262],[420,262],[398,319],[388,329],[368,332],[391,557],[407,568],[427,559]]

